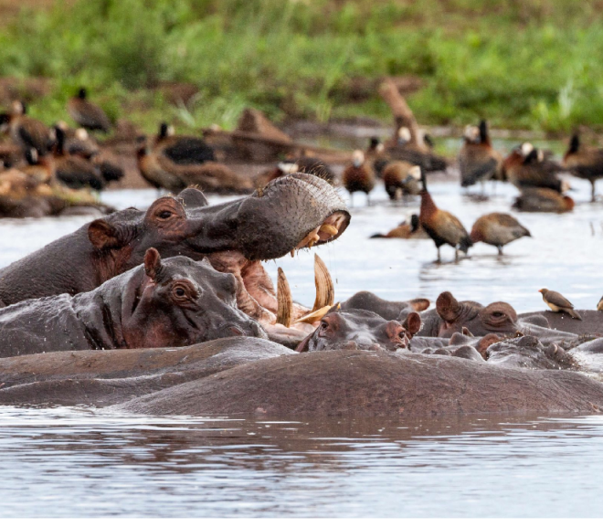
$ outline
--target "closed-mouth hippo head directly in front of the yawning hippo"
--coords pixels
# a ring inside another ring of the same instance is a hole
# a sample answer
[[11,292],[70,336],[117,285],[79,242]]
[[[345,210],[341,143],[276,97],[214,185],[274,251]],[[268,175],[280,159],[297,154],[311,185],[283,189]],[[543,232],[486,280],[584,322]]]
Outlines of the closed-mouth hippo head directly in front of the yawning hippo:
[[[130,279],[121,279],[131,273]],[[110,280],[103,289],[121,294],[122,342],[129,348],[266,336],[258,322],[237,309],[237,280],[217,272],[206,260],[174,257],[162,261],[159,252],[149,248],[142,269],[132,269],[122,277]],[[120,282],[118,288],[111,288],[114,281]]]

